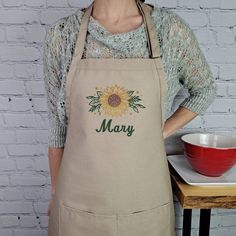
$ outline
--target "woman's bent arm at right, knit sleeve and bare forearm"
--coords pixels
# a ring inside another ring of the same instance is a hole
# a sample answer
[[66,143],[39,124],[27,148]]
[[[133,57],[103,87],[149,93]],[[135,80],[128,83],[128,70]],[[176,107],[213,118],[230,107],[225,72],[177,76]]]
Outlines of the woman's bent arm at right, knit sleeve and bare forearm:
[[176,13],[171,18],[169,42],[174,50],[177,79],[189,92],[189,96],[166,120],[164,138],[174,134],[197,115],[203,114],[216,97],[216,83],[199,42],[190,25]]

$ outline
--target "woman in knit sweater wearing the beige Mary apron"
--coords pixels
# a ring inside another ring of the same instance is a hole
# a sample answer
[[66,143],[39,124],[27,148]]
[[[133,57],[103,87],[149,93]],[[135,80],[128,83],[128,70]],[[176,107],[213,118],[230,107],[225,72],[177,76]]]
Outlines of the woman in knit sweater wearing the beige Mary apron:
[[44,68],[48,235],[175,235],[164,139],[216,92],[189,25],[140,0],[95,0],[49,28]]

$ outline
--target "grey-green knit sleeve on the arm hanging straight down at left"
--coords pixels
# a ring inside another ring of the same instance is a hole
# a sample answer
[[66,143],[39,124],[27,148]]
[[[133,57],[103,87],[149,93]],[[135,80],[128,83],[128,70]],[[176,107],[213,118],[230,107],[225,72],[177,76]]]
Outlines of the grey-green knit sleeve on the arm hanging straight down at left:
[[66,124],[60,122],[57,110],[57,101],[61,88],[60,25],[55,24],[47,29],[43,45],[44,84],[46,89],[49,133],[49,147],[64,147]]

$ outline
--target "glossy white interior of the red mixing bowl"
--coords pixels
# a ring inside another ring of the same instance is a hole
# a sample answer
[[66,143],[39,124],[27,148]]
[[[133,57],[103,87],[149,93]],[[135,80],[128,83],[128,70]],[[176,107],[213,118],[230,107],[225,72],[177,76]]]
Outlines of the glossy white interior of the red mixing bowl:
[[187,143],[212,148],[236,148],[236,138],[210,133],[185,134],[181,139]]

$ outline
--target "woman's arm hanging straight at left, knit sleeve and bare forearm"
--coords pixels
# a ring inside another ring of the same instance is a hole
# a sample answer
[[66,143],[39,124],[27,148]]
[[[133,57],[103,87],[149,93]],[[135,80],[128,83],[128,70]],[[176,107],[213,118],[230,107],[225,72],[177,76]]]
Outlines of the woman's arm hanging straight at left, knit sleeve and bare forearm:
[[62,50],[60,22],[47,30],[44,41],[44,84],[47,95],[49,134],[48,159],[51,175],[51,194],[55,193],[57,176],[64,151],[66,124],[58,116],[57,101],[61,88],[60,52]]

